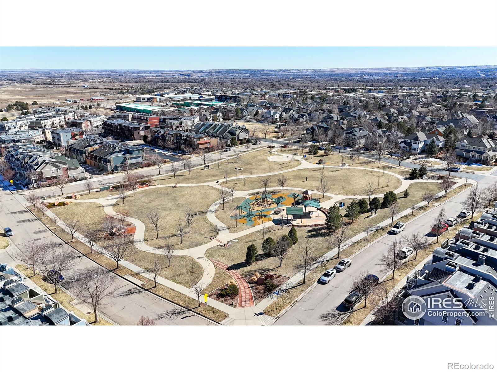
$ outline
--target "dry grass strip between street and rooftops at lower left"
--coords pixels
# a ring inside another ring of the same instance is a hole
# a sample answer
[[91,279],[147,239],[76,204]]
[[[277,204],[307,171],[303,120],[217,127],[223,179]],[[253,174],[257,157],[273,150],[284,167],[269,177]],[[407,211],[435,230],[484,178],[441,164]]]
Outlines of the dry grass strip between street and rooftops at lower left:
[[91,325],[113,325],[112,323],[109,323],[107,320],[105,320],[102,316],[100,316],[101,314],[98,313],[98,311],[98,323],[94,323],[94,313],[83,313],[83,311],[72,305],[71,302],[73,302],[76,298],[71,297],[60,286],[58,286],[57,293],[53,293],[54,286],[52,284],[44,282],[41,275],[36,274],[35,276],[33,276],[33,271],[30,268],[27,268],[27,266],[25,265],[16,265],[15,268],[22,272],[22,274],[27,276],[34,284],[48,293],[50,297],[52,297],[56,301],[59,301],[61,306],[64,307],[66,310],[73,311],[79,318],[86,319],[86,321]]

